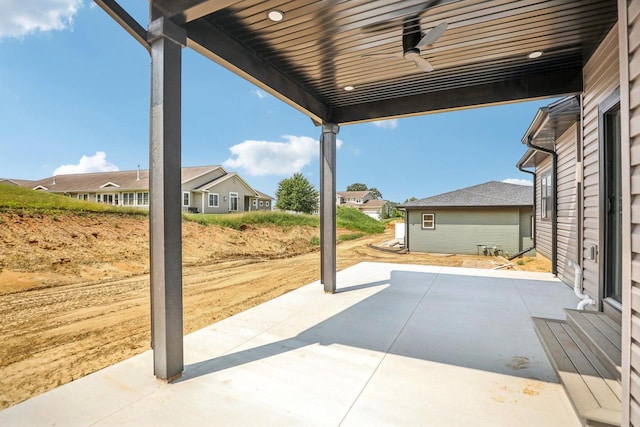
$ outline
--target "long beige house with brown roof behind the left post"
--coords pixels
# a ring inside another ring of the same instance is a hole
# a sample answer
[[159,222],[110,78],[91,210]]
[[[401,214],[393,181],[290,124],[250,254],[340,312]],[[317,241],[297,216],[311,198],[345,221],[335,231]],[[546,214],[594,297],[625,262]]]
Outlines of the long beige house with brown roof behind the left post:
[[[181,178],[180,203],[184,211],[229,213],[271,209],[271,197],[256,191],[238,174],[227,172],[221,166],[185,167]],[[148,170],[56,175],[26,181],[22,186],[79,200],[149,207]]]

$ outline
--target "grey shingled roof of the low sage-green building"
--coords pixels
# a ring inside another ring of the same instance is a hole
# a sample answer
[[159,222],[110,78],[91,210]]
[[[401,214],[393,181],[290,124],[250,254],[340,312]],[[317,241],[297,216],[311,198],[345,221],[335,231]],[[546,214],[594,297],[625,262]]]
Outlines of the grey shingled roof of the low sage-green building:
[[422,207],[488,207],[488,206],[532,206],[533,187],[489,181],[484,184],[448,193],[438,194],[425,199],[414,200],[399,208],[412,209]]

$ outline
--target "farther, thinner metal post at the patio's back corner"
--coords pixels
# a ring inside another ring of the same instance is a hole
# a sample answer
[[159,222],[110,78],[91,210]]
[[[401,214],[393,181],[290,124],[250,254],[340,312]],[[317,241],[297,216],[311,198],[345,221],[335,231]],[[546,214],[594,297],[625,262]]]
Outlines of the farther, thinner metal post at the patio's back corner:
[[336,291],[336,124],[324,123],[320,138],[320,280]]

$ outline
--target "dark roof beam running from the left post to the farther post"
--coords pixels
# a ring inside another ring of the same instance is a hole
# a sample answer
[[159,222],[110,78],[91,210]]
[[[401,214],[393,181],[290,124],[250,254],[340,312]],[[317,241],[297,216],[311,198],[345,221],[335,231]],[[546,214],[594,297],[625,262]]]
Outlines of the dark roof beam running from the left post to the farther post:
[[191,22],[184,28],[189,47],[286,102],[314,122],[326,121],[328,110],[324,104],[218,28],[205,20]]

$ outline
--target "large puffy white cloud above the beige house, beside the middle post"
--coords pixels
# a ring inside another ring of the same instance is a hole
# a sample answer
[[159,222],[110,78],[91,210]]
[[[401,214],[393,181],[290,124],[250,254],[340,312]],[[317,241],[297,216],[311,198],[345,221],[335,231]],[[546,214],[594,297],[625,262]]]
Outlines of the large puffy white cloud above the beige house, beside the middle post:
[[[231,157],[223,165],[241,168],[249,175],[289,176],[300,172],[319,155],[318,140],[308,136],[285,135],[286,142],[241,142],[229,148]],[[337,148],[342,141],[336,141]]]

